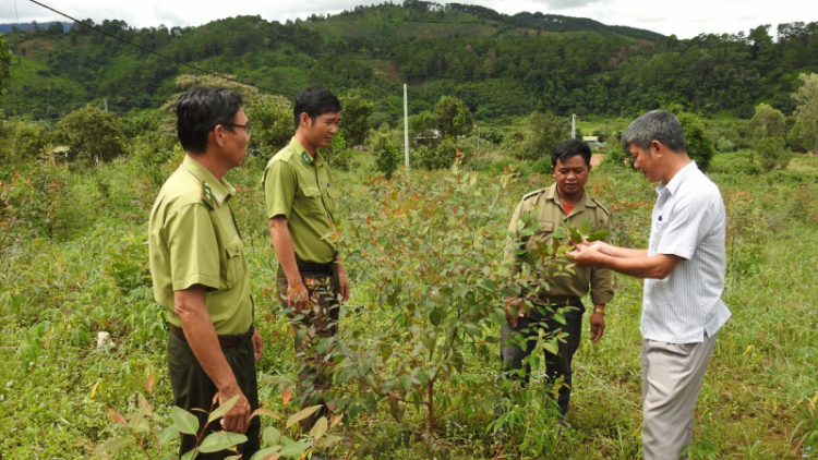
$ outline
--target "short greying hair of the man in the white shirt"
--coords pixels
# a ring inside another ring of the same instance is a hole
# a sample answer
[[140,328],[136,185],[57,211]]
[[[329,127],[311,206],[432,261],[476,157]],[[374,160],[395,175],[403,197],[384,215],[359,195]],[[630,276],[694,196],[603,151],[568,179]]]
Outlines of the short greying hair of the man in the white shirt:
[[664,110],[651,110],[631,121],[622,135],[622,148],[630,149],[630,144],[649,152],[650,144],[659,141],[673,152],[685,150],[685,132],[676,116]]

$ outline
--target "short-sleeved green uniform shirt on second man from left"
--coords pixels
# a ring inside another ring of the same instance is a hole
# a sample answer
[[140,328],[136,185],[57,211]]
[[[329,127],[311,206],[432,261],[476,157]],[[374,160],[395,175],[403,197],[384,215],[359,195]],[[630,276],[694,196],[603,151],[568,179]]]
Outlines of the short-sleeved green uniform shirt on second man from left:
[[293,137],[273,156],[262,178],[267,218],[287,218],[296,261],[327,264],[336,249],[326,239],[336,208],[329,166],[316,152],[315,158]]

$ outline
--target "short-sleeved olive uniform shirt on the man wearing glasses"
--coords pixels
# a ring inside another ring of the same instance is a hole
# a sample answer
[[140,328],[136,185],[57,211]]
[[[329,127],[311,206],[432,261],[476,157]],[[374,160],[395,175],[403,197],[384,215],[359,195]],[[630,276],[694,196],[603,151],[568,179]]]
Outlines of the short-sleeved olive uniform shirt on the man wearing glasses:
[[156,197],[148,223],[151,276],[170,324],[182,326],[173,312],[173,291],[203,285],[216,334],[250,329],[250,274],[230,207],[234,193],[185,155]]

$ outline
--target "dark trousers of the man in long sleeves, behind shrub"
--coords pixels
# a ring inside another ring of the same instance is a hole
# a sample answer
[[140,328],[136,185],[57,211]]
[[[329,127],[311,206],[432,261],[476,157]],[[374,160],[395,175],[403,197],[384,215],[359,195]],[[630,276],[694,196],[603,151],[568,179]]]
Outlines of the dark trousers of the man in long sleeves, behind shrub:
[[[512,327],[508,323],[501,328],[501,350],[503,359],[503,376],[512,379],[519,379],[517,371],[522,368],[522,360],[528,358],[537,346],[539,330],[545,329],[548,332],[562,330],[567,334],[565,341],[558,341],[557,354],[544,351],[545,353],[545,375],[549,379],[564,378],[565,385],[560,388],[557,404],[560,412],[565,415],[568,412],[568,401],[570,400],[570,389],[574,384],[572,378],[570,364],[574,360],[574,353],[579,348],[579,340],[582,336],[582,315],[585,306],[582,302],[570,304],[572,310],[565,312],[565,324],[556,322],[540,312],[533,311],[527,317],[517,320],[517,327]],[[513,337],[519,334],[524,341],[515,343]],[[522,377],[526,385],[531,380],[531,366],[526,364],[526,374]]]

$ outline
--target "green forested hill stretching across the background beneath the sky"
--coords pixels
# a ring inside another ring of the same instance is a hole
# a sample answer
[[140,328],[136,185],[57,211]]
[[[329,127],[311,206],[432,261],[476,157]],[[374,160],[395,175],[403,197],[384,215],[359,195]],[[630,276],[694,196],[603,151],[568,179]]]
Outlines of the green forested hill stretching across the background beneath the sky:
[[[239,16],[199,27],[98,26],[290,99],[312,83],[354,90],[376,101],[375,125],[402,113],[402,83],[413,113],[454,95],[482,120],[532,110],[625,116],[667,104],[749,117],[761,101],[791,112],[798,74],[818,72],[816,22],[679,40],[588,19],[408,0],[285,24]],[[0,108],[35,119],[88,102],[157,108],[191,72],[82,26],[4,38],[14,80]]]

